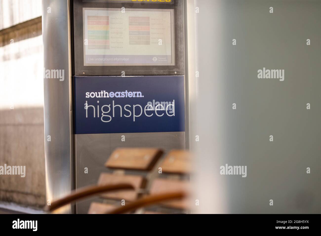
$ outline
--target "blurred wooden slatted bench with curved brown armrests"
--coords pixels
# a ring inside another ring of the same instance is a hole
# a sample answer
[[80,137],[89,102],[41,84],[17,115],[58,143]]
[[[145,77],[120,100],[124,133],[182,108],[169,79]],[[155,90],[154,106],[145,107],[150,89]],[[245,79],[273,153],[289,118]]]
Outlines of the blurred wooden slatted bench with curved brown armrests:
[[[119,148],[105,163],[113,173],[101,173],[96,186],[75,190],[46,207],[51,212],[85,197],[99,195],[88,214],[180,214],[187,213],[191,155],[172,150],[165,157],[156,148]],[[140,172],[135,174],[135,171]],[[126,174],[126,171],[131,171]],[[145,175],[140,173],[144,172]],[[132,174],[134,173],[134,174]]]

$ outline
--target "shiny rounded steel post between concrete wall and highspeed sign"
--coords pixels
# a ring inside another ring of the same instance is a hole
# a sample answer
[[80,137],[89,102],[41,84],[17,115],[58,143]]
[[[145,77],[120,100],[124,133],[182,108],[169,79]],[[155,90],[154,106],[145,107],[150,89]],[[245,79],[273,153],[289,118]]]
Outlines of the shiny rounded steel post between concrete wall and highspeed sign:
[[[70,19],[69,0],[42,1],[44,67],[64,70],[64,80],[44,78],[46,199],[50,202],[74,188]],[[71,205],[56,211],[73,212]]]

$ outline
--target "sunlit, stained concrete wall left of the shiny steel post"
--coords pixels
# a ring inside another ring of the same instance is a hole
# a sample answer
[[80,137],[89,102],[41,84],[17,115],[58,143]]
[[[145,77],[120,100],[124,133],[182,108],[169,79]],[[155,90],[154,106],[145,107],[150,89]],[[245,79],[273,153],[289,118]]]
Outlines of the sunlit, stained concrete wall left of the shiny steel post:
[[40,0],[0,0],[0,201],[45,204],[43,47]]

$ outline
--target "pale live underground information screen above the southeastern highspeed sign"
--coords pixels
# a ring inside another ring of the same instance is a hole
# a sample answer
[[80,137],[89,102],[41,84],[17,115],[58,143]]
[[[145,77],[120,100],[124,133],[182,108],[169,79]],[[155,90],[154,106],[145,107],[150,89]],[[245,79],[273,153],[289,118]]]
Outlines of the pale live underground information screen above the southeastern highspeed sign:
[[84,66],[174,66],[174,10],[83,8]]

